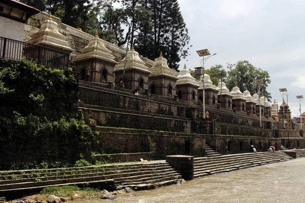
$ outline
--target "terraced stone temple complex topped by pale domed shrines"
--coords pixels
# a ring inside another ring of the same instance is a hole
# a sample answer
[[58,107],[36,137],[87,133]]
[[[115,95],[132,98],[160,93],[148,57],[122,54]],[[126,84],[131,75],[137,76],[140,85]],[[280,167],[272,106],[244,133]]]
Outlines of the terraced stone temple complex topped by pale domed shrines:
[[[241,92],[238,86],[229,90],[224,82],[213,84],[206,73],[196,80],[187,64],[180,72],[171,69],[162,50],[149,60],[134,46],[126,51],[50,13],[10,3],[0,3],[1,57],[26,57],[78,73],[75,105],[87,124],[94,120],[103,127],[92,151],[164,159],[178,154],[204,156],[207,145],[221,154],[248,152],[250,145],[260,146],[258,151],[270,145],[277,150],[282,145],[305,148],[301,126],[291,123],[284,100],[270,104],[264,95]],[[85,81],[88,66],[92,71]],[[136,87],[139,95],[134,94]]]

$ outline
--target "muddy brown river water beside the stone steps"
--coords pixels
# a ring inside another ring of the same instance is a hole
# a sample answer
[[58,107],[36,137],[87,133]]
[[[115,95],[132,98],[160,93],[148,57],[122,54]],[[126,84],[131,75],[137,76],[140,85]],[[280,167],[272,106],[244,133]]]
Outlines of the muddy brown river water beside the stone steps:
[[[120,194],[115,203],[305,202],[305,158],[206,176],[180,185]],[[84,202],[110,202],[89,200]]]

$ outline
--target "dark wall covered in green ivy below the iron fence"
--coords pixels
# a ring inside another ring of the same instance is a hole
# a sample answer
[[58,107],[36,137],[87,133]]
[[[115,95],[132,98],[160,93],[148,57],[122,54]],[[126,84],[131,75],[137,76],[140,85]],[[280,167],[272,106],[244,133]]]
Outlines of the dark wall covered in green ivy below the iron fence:
[[0,59],[0,170],[10,168],[8,162],[16,168],[16,162],[24,165],[20,161],[79,158],[79,143],[95,132],[76,111],[77,77],[25,59]]

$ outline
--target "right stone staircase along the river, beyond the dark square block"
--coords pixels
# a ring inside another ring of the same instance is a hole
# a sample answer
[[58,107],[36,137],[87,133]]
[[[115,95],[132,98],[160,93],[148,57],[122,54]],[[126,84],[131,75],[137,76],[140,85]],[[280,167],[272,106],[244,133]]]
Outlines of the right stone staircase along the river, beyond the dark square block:
[[194,179],[289,159],[291,157],[283,151],[198,157],[194,158]]

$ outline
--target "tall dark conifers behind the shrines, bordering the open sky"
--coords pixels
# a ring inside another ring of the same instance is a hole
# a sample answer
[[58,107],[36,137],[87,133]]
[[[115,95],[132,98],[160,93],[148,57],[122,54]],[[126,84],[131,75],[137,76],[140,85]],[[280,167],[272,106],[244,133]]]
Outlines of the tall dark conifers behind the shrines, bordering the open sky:
[[137,51],[152,60],[162,51],[169,66],[178,70],[181,57],[188,55],[190,37],[177,0],[139,0],[139,4],[150,11],[152,27],[140,24]]

